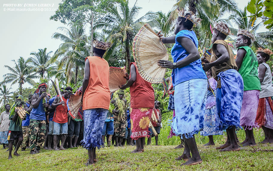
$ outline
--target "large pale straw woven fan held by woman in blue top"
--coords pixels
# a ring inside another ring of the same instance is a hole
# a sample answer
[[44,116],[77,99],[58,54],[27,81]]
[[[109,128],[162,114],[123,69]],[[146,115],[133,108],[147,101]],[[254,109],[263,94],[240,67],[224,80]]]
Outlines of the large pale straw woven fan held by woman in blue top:
[[162,83],[166,68],[158,60],[168,60],[166,47],[149,24],[145,24],[133,41],[133,55],[141,77],[150,83]]

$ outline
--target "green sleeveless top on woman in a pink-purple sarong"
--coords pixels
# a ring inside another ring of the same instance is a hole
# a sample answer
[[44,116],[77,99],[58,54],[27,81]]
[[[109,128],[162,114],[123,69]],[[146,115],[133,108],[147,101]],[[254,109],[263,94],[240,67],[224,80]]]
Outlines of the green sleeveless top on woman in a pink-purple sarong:
[[258,77],[258,61],[255,53],[248,46],[239,47],[238,49],[244,49],[247,52],[238,71],[244,81],[244,91],[261,90]]

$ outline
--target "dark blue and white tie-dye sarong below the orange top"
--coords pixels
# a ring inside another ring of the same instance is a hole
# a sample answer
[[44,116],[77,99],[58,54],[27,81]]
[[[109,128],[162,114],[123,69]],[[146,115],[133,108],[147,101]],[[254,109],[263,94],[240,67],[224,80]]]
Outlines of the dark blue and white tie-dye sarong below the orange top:
[[108,110],[104,108],[87,109],[83,111],[84,137],[81,141],[86,149],[104,147],[102,130]]

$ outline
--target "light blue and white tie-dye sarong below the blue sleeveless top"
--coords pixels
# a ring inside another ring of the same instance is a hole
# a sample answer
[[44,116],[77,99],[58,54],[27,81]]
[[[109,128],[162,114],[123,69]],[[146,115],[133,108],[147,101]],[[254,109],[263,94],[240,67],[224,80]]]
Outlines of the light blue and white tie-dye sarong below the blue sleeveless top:
[[207,80],[191,79],[175,86],[174,101],[176,116],[171,127],[176,135],[192,138],[203,128]]

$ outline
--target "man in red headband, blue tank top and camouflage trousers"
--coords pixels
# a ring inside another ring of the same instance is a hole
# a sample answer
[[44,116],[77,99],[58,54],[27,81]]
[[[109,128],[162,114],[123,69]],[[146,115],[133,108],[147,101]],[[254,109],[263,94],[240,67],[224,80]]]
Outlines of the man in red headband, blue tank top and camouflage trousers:
[[46,88],[46,83],[40,84],[32,96],[33,108],[29,117],[29,129],[31,130],[29,138],[30,154],[39,153],[46,136],[46,108],[50,108]]

